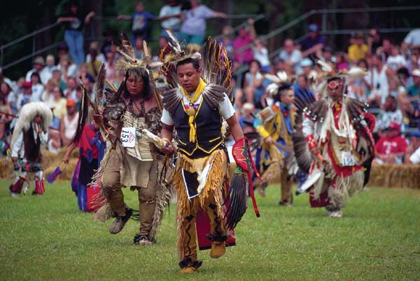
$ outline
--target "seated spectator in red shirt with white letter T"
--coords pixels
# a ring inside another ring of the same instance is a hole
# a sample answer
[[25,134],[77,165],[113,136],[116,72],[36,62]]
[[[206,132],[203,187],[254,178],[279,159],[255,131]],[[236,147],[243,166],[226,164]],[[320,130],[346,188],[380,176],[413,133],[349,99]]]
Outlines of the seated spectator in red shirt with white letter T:
[[391,122],[386,133],[375,144],[377,164],[402,164],[402,156],[407,150],[407,141],[400,135],[400,124]]

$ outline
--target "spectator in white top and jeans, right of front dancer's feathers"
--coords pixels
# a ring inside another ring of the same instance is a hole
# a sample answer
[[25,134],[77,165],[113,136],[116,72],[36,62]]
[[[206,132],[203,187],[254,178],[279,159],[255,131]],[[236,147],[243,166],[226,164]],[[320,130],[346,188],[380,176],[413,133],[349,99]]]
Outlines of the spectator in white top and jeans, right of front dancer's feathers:
[[253,60],[249,64],[249,71],[245,74],[244,93],[246,101],[253,103],[256,108],[262,108],[262,96],[264,95],[264,86],[262,82],[264,76],[260,72],[260,62]]

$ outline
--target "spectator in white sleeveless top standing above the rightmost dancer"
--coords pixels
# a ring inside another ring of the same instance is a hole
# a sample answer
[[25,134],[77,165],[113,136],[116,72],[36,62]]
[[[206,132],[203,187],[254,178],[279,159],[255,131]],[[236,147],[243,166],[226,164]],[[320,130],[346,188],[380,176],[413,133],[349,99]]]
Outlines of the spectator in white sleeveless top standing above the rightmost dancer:
[[365,81],[370,88],[368,102],[380,107],[389,95],[388,76],[392,75],[392,71],[382,63],[381,55],[372,55],[371,64],[365,76]]

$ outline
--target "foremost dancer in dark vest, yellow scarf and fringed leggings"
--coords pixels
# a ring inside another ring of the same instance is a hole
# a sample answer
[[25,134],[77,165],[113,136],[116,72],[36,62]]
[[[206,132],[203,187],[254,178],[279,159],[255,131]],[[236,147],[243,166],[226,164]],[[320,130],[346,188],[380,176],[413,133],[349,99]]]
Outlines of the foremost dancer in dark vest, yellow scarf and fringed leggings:
[[[223,206],[228,193],[223,119],[241,144],[236,152],[234,149],[234,156],[244,163],[249,158],[244,157],[248,149],[230,100],[231,72],[225,48],[209,38],[201,61],[200,46],[181,48],[172,31],[167,32],[173,51],[165,56],[162,70],[171,88],[163,93],[161,135],[170,144],[176,130],[179,158],[173,183],[178,194],[179,266],[181,273],[193,273],[202,265],[197,259],[197,236],[200,245],[202,230],[207,226],[210,256],[217,259],[225,254],[229,234],[246,210],[246,186],[235,182],[231,186],[235,188],[229,191],[228,207]],[[172,148],[168,146],[166,152],[171,153]],[[201,223],[203,217],[208,217],[207,225]],[[200,245],[200,249],[207,247]]]

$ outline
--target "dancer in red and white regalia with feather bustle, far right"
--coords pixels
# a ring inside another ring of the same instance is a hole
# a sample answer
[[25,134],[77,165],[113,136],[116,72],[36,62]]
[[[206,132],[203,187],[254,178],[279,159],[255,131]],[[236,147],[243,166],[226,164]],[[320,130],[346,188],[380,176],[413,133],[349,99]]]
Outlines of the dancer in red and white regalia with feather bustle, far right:
[[295,101],[297,128],[293,142],[297,163],[309,172],[302,191],[310,189],[312,207],[325,207],[330,217],[342,217],[347,199],[363,188],[368,172],[363,164],[374,154],[374,116],[366,105],[346,96],[346,72],[322,60],[326,93],[320,100],[301,95]]

